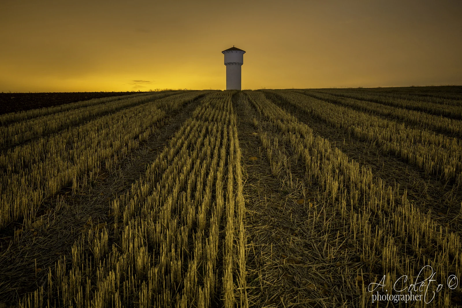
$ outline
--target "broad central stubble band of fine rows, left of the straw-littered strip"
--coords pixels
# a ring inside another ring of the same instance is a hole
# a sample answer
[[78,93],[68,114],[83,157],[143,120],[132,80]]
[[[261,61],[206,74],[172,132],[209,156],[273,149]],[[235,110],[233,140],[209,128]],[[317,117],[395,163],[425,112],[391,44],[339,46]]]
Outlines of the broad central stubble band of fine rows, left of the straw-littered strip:
[[116,244],[104,226],[87,231],[71,268],[58,261],[20,307],[234,307],[245,296],[240,169],[231,93],[210,94],[113,202]]

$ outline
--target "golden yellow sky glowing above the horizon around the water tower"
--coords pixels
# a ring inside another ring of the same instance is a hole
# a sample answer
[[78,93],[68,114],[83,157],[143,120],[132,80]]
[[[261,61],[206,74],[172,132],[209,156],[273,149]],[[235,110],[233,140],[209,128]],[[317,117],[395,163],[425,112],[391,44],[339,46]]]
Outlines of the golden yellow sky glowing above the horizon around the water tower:
[[0,91],[462,85],[460,0],[1,0]]

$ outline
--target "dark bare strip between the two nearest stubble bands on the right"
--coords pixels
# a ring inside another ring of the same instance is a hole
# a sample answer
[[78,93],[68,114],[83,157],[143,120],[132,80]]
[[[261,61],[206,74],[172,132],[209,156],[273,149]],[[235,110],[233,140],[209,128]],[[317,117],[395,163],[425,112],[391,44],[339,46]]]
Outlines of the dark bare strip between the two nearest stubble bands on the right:
[[389,156],[371,143],[351,137],[348,132],[329,126],[327,123],[297,109],[280,97],[265,93],[280,108],[296,116],[311,127],[316,135],[334,142],[348,157],[370,166],[374,175],[380,176],[387,185],[399,184],[400,191],[424,211],[432,211],[432,219],[441,225],[448,224],[452,232],[462,234],[462,192],[450,184],[438,181],[437,177],[425,175],[417,167]]

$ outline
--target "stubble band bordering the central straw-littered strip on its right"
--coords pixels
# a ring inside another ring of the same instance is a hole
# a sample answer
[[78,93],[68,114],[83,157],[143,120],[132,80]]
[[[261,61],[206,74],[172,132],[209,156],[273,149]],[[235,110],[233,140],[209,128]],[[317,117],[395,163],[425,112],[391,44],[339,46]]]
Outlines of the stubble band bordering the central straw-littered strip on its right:
[[[355,243],[363,262],[383,268],[388,285],[402,275],[408,275],[412,281],[424,266],[432,267],[436,273],[433,279],[438,281],[446,281],[450,275],[460,277],[459,236],[447,227],[436,226],[430,213],[413,205],[406,192],[400,194],[399,187],[385,185],[370,168],[349,159],[328,140],[315,137],[310,127],[275,106],[263,93],[244,92],[265,120],[281,132],[273,136],[274,141],[268,140],[261,124],[255,121],[268,153],[280,145],[287,146],[303,161],[308,183],[317,182],[322,186],[323,199],[331,205],[331,215],[339,215],[345,223],[344,236]],[[360,292],[365,304],[369,293],[365,288]],[[431,299],[429,293],[425,300]],[[451,290],[446,288],[431,305],[448,307],[450,299]]]

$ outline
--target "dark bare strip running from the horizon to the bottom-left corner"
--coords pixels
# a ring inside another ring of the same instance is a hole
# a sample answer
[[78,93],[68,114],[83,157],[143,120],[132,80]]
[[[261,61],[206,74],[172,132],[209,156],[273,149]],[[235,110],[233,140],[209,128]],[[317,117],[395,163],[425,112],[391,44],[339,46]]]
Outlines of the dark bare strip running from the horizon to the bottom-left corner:
[[[6,277],[0,282],[0,303],[16,303],[24,293],[45,284],[48,268],[53,271],[61,255],[66,256],[68,262],[72,260],[71,247],[82,230],[109,228],[114,221],[109,216],[112,200],[125,193],[145,173],[145,165],[155,160],[202,98],[170,112],[168,124],[140,148],[129,152],[116,166],[101,170],[98,180],[85,191],[71,196],[70,189],[62,190],[57,197],[46,200],[37,213],[42,225],[23,230],[19,237],[0,234],[0,272]],[[109,243],[113,240],[114,232],[109,232]]]

